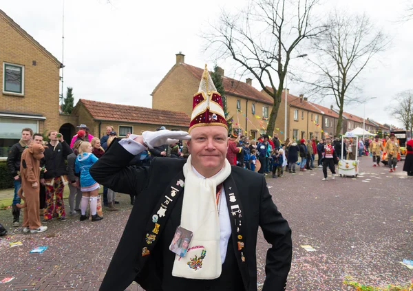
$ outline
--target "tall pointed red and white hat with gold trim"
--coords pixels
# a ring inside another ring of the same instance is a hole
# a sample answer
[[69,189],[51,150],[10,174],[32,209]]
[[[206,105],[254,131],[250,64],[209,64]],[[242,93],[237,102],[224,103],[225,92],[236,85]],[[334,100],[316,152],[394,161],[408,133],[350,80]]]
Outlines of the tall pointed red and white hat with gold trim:
[[189,132],[195,127],[221,126],[228,130],[222,98],[218,93],[205,65],[198,93],[193,96],[191,122]]

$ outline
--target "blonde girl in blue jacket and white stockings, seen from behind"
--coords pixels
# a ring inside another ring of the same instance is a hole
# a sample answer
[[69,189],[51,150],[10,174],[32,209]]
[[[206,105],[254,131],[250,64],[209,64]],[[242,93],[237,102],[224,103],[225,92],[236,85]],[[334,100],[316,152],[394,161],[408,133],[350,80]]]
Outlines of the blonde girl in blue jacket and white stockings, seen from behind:
[[98,190],[100,185],[93,180],[89,173],[90,167],[98,161],[96,155],[92,153],[92,144],[90,142],[80,142],[78,147],[78,156],[75,162],[75,172],[81,174],[81,222],[87,219],[86,208],[89,204],[90,214],[92,215],[92,222],[103,219],[96,211],[98,206]]

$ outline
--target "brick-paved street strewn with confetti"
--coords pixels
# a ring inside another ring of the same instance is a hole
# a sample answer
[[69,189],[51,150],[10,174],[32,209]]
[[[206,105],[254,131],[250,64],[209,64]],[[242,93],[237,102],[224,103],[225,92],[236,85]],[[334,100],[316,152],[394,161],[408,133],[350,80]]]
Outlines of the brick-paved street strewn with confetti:
[[[287,290],[349,290],[342,281],[372,285],[407,283],[413,270],[399,261],[413,259],[413,179],[399,163],[396,173],[373,168],[363,157],[359,177],[321,181],[321,169],[268,177],[273,200],[293,229],[293,266]],[[271,175],[270,175],[271,176]],[[0,241],[0,290],[96,290],[103,279],[131,206],[120,195],[122,211],[105,213],[102,222],[52,222],[46,233],[23,235],[11,228],[10,209],[0,221],[10,230]],[[264,281],[268,244],[257,246],[258,288]],[[21,241],[22,246],[9,247]],[[301,245],[310,245],[308,252]],[[30,254],[48,246],[41,254]],[[140,290],[138,285],[128,290]]]

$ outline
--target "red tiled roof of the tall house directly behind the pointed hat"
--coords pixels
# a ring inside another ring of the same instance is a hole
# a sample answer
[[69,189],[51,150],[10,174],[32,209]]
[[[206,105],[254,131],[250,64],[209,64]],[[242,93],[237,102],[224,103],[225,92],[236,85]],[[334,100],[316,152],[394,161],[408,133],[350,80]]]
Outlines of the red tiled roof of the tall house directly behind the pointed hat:
[[[189,72],[191,72],[196,78],[201,80],[204,69],[201,69],[200,67],[193,67],[192,65],[188,65],[185,63],[182,63],[181,65],[184,65],[184,67],[186,67]],[[273,98],[262,94],[253,86],[241,82],[240,80],[235,80],[233,78],[224,76],[222,78],[222,85],[224,86],[226,94],[241,96],[244,98],[249,98],[270,105],[273,104]]]

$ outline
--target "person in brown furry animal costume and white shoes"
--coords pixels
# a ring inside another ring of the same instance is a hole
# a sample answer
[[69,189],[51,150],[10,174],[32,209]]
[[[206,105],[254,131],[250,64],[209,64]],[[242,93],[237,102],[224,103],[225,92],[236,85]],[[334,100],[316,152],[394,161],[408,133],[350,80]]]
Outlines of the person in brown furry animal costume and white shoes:
[[43,145],[32,143],[21,154],[19,196],[25,204],[17,204],[17,207],[24,208],[23,233],[43,233],[47,230],[47,226],[41,225],[39,217],[40,160],[44,157],[44,151]]

